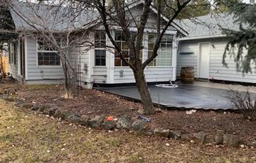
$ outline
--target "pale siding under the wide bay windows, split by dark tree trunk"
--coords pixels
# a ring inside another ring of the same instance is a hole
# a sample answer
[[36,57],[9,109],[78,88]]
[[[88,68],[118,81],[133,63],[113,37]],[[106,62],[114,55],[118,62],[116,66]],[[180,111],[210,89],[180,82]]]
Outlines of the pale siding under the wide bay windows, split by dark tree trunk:
[[[123,77],[120,77],[120,71],[123,70]],[[144,74],[147,82],[167,82],[172,79],[172,67],[146,67]],[[135,82],[133,71],[130,67],[115,67],[114,83]]]

